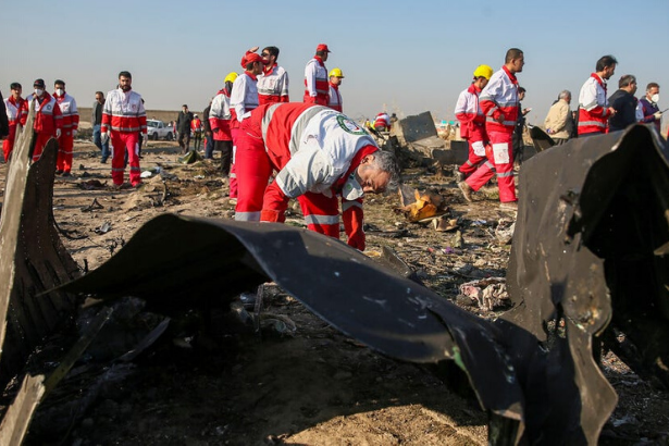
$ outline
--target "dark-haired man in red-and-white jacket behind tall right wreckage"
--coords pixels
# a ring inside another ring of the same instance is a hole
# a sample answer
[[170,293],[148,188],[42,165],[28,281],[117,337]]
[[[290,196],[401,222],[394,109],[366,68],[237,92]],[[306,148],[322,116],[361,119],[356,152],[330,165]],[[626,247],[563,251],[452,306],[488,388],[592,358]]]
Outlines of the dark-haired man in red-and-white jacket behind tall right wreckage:
[[608,131],[608,119],[616,114],[608,107],[606,80],[616,72],[618,61],[612,55],[599,58],[579,92],[579,136],[600,135]]

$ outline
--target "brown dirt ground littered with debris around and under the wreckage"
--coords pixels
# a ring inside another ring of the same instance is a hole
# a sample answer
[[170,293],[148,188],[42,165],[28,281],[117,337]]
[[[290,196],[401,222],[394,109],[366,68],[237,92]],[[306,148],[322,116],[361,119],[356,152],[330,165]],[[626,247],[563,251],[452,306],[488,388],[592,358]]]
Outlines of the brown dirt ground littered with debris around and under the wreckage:
[[[174,143],[150,141],[141,168],[160,166],[162,175],[146,178],[138,189],[114,190],[110,164],[100,163],[92,144],[76,143],[73,176],[57,177],[53,210],[82,269],[102,264],[160,213],[233,216],[218,160],[185,165],[177,162],[177,152]],[[7,164],[0,164],[2,190],[5,173]],[[438,191],[457,227],[436,232],[408,223],[394,212],[397,195],[375,196],[366,201],[366,253],[376,257],[383,246],[392,247],[444,298],[483,318],[497,317],[504,306],[481,308],[458,296],[459,285],[505,276],[510,245],[498,230],[507,228],[515,214],[498,209],[495,187],[467,203],[449,172],[410,169],[404,179]],[[300,225],[299,211],[288,222]],[[214,314],[210,333],[194,338],[187,329],[179,332],[187,324],[175,322],[131,363],[94,367],[83,358],[38,409],[26,444],[487,443],[486,416],[466,389],[448,389],[420,367],[376,355],[277,287],[270,287],[267,301],[267,311],[289,318],[295,333],[267,330],[260,338],[241,322]],[[610,352],[602,367],[620,402],[600,443],[669,444],[669,395]]]

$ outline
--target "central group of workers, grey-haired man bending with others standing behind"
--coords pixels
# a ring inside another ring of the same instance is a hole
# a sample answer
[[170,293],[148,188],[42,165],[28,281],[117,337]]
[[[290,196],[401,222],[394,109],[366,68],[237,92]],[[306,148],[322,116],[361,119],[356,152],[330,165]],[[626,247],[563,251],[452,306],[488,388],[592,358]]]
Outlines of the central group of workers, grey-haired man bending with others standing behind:
[[241,74],[225,76],[209,111],[235,220],[283,222],[295,198],[308,228],[338,238],[340,197],[347,243],[363,250],[362,196],[398,178],[394,154],[342,113],[344,74],[327,72],[327,45],[305,67],[302,102],[289,102],[278,48],[258,49],[241,58]]

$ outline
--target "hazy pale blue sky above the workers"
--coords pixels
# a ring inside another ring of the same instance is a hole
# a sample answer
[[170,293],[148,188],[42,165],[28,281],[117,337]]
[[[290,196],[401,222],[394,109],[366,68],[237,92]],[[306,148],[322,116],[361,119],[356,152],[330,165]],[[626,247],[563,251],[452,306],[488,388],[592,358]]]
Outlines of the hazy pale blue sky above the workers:
[[301,101],[305,64],[324,42],[327,69],[346,76],[344,112],[355,119],[430,110],[453,120],[473,70],[498,70],[511,47],[525,54],[519,80],[530,123],[543,123],[562,89],[575,108],[596,60],[609,53],[620,62],[609,95],[621,75],[634,74],[636,96],[657,82],[660,108],[669,107],[669,0],[2,0],[0,17],[5,97],[14,80],[27,96],[35,78],[49,91],[62,78],[90,107],[95,91],[107,94],[127,70],[148,109],[202,110],[227,73],[243,71],[248,48],[276,46],[290,98]]

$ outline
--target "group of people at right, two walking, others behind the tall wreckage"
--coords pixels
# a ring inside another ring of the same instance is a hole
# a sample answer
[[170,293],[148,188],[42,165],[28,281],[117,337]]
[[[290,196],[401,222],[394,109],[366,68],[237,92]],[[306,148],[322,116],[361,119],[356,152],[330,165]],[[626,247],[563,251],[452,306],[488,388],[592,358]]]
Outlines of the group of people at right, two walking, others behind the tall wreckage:
[[[616,64],[612,55],[600,58],[595,73],[581,88],[577,116],[579,137],[624,129],[635,122],[655,124],[659,132],[661,112],[657,107],[657,84],[648,84],[646,97],[636,100],[633,97],[636,79],[631,75],[622,76],[620,89],[609,98],[609,106],[606,80],[614,74]],[[478,66],[473,80],[458,97],[455,113],[460,122],[460,135],[469,143],[468,160],[457,169],[458,187],[468,201],[472,201],[472,194],[496,174],[500,208],[518,208],[512,138],[519,119],[525,112],[520,109],[524,89],[517,78],[523,65],[523,52],[511,48],[506,53],[505,64],[497,72],[488,65]],[[570,100],[571,94],[562,91],[546,120],[547,132],[558,144],[569,138],[565,127],[571,117]]]

